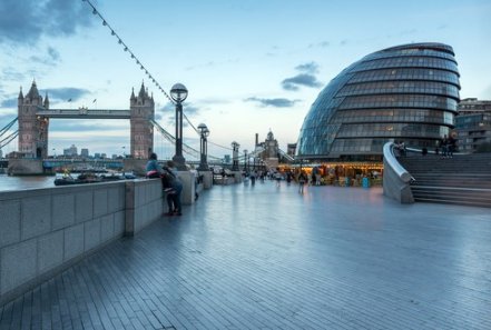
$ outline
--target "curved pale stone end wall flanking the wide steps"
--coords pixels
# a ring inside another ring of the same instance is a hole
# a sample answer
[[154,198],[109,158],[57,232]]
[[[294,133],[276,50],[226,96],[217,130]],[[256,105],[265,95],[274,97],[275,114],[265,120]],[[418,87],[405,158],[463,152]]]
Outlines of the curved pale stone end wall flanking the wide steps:
[[413,203],[414,198],[410,183],[414,178],[399,163],[394,154],[395,144],[384,144],[384,194],[401,203]]

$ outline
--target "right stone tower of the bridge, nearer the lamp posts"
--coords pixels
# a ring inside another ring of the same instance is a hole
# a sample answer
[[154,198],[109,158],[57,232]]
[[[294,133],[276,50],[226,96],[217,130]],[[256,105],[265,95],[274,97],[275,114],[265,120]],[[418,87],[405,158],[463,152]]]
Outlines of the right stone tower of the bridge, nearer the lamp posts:
[[131,157],[148,159],[154,151],[154,127],[150,119],[155,116],[155,102],[154,96],[148,96],[148,89],[143,82],[138,97],[135,96],[135,89],[131,91],[129,110]]

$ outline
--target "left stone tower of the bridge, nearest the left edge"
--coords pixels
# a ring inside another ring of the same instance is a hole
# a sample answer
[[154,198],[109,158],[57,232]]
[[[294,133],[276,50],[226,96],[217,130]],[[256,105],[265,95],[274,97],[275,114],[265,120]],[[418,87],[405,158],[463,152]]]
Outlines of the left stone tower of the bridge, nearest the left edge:
[[48,94],[42,100],[36,81],[32,81],[32,86],[26,97],[22,94],[22,88],[20,89],[17,103],[19,152],[26,158],[47,158],[49,119],[37,116],[36,112],[39,111],[39,108],[49,109]]

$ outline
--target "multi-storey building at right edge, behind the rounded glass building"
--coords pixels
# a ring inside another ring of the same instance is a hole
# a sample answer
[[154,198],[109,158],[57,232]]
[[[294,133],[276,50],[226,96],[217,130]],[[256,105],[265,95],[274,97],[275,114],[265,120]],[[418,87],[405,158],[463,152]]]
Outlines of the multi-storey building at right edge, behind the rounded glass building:
[[482,143],[491,143],[491,101],[463,99],[458,110],[455,131],[459,151],[474,152]]

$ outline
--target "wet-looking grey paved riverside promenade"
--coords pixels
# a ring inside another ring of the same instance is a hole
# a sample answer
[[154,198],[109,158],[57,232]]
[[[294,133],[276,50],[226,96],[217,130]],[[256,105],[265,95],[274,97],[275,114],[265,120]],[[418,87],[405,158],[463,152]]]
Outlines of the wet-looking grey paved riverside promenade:
[[0,329],[491,329],[489,209],[214,187],[0,308]]

